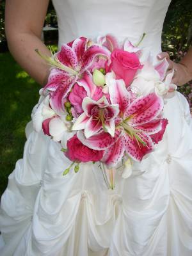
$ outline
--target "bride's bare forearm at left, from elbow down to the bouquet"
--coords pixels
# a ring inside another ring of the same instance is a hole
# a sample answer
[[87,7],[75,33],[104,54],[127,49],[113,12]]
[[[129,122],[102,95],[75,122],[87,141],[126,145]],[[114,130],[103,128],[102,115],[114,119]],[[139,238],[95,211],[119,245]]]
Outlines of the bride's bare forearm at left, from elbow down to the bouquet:
[[35,52],[39,49],[42,54],[51,56],[51,52],[33,33],[22,32],[8,37],[8,46],[15,60],[38,83],[44,85],[49,75],[49,65]]

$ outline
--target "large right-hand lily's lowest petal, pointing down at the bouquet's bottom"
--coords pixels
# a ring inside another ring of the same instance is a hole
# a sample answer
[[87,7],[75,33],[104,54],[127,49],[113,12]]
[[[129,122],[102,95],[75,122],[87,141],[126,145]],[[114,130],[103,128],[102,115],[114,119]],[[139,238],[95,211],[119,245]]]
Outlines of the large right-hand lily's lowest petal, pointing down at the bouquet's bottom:
[[124,143],[120,137],[112,147],[106,148],[101,161],[108,164],[108,166],[113,167],[122,159],[124,151]]

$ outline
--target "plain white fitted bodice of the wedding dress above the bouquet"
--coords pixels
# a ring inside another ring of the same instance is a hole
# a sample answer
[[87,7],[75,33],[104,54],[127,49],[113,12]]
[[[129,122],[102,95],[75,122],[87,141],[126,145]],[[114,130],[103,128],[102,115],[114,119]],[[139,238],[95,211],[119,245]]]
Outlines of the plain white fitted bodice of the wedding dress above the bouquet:
[[59,45],[79,36],[95,39],[112,33],[123,41],[142,42],[152,54],[161,51],[161,32],[171,0],[54,0]]

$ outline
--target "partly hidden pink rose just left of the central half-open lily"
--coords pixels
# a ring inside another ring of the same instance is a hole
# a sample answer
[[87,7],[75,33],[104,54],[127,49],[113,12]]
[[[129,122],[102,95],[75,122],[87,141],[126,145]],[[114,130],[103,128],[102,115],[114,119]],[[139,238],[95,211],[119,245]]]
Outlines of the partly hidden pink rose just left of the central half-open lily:
[[77,83],[74,85],[72,92],[68,97],[70,103],[74,106],[76,115],[83,113],[82,102],[84,97],[87,96],[86,90],[82,86],[79,86]]

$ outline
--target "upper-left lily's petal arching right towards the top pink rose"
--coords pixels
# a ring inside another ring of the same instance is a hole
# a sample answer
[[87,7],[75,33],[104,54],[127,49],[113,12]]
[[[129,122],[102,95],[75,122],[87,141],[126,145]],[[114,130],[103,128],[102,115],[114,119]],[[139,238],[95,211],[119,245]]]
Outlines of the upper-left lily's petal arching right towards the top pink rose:
[[81,67],[81,73],[88,69],[97,55],[104,55],[109,59],[110,52],[108,49],[104,49],[100,45],[92,45],[84,52],[81,60],[79,61],[79,67]]

